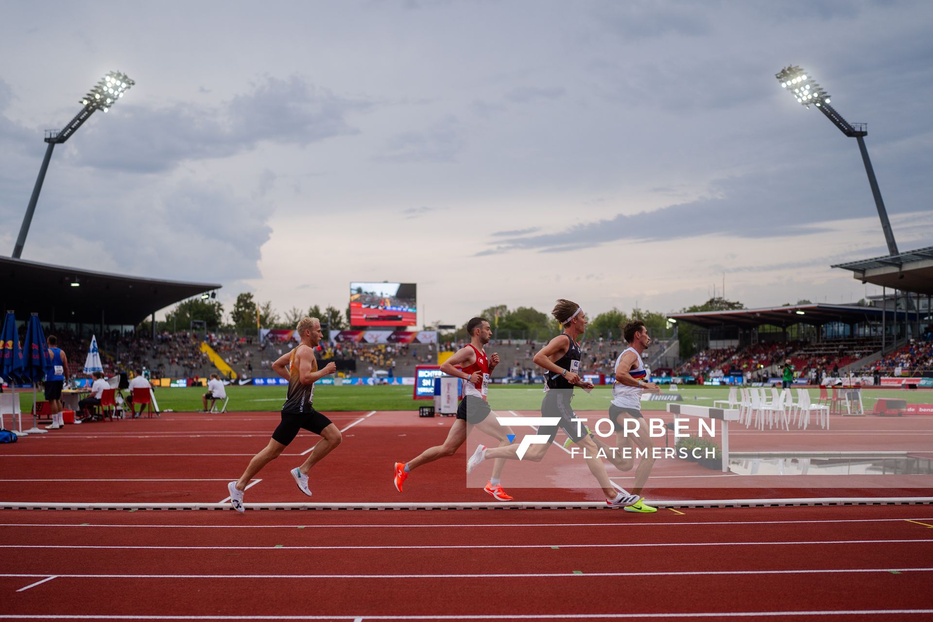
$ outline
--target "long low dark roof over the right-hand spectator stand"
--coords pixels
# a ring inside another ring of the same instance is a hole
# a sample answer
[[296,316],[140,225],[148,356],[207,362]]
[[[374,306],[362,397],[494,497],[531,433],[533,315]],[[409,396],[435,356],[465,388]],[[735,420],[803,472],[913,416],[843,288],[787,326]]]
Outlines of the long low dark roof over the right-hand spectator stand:
[[[755,328],[760,325],[791,326],[795,324],[824,325],[829,322],[858,324],[881,322],[880,307],[858,305],[805,304],[789,307],[765,307],[763,309],[740,309],[736,311],[698,311],[695,313],[672,313],[669,318],[677,322],[712,328],[714,326],[738,326]],[[903,321],[904,312],[898,311],[898,321]],[[887,311],[887,321],[892,322],[894,311]]]

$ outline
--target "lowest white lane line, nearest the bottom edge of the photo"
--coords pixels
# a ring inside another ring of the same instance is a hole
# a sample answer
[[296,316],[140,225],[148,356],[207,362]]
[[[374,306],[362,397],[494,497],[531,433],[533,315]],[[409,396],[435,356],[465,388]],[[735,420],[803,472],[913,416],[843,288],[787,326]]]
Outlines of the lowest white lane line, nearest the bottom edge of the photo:
[[[693,612],[660,614],[477,614],[477,615],[71,615],[71,614],[0,614],[5,619],[50,620],[594,620],[629,618],[693,618],[693,617],[799,617],[813,615],[921,615],[933,614],[933,609],[818,609],[810,611],[740,611]],[[879,618],[884,619],[884,618]]]

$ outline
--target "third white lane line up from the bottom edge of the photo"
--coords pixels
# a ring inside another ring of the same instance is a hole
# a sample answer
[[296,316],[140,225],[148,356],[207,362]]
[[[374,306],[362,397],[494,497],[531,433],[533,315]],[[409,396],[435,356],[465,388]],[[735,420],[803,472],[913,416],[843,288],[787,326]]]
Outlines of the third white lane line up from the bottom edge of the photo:
[[[886,545],[904,543],[933,543],[933,539],[907,539],[907,540],[800,540],[790,542],[655,542],[655,543],[624,543],[624,544],[583,544],[583,545],[333,545],[333,546],[236,546],[239,549],[249,550],[391,550],[397,548],[628,548],[646,546],[796,546],[796,545]],[[230,550],[230,546],[145,546],[145,545],[0,545],[0,548],[118,548],[118,549],[156,549],[156,550]]]

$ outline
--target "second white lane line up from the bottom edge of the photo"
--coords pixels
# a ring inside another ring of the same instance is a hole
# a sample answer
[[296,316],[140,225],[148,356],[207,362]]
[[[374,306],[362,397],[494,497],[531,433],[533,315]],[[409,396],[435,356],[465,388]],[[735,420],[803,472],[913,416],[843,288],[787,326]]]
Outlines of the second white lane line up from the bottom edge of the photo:
[[[793,570],[686,570],[628,573],[490,573],[490,574],[55,574],[67,579],[524,579],[606,576],[731,576],[756,574],[869,574],[933,573],[933,568],[811,568]],[[39,577],[49,574],[0,574],[0,577]],[[369,617],[369,615],[367,616]]]

